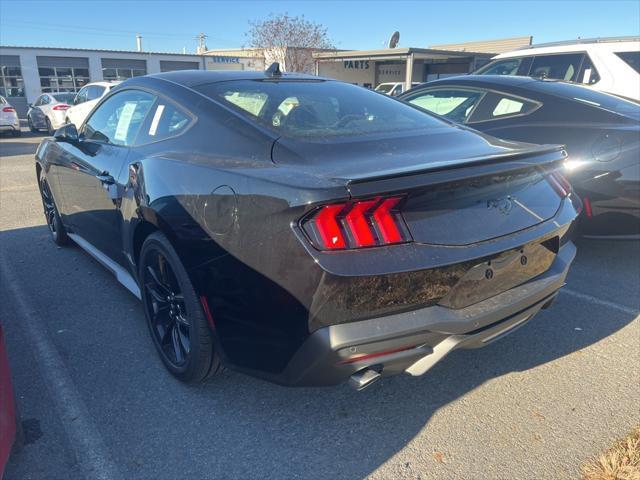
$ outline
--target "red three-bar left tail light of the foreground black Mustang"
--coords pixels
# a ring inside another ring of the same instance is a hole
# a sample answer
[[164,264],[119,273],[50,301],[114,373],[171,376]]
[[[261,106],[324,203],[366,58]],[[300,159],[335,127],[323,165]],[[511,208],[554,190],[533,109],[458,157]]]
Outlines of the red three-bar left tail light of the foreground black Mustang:
[[344,250],[411,241],[399,205],[403,197],[325,205],[302,223],[320,250]]

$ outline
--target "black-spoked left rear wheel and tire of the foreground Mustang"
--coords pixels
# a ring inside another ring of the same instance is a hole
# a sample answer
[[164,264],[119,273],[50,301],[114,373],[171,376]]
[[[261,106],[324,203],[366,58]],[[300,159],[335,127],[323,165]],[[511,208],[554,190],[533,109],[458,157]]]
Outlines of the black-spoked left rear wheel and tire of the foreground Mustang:
[[138,278],[149,333],[176,378],[197,383],[220,371],[213,335],[178,254],[160,232],[140,251]]

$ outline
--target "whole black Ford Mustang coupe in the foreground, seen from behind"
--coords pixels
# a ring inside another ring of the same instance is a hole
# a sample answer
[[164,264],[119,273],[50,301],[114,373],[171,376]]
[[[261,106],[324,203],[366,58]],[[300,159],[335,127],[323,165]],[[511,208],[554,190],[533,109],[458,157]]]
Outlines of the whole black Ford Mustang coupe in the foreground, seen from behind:
[[113,89],[36,170],[56,243],[142,299],[175,376],[361,388],[551,303],[575,254],[564,158],[337,81],[182,71]]

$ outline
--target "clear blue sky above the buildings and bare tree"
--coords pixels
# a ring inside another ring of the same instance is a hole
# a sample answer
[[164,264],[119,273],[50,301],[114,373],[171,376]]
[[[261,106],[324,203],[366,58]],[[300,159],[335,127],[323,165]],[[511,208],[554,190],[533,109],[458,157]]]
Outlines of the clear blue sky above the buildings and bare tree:
[[640,1],[19,1],[0,0],[0,44],[194,52],[246,45],[250,20],[287,12],[321,23],[337,48],[404,47],[533,35],[534,43],[640,36]]

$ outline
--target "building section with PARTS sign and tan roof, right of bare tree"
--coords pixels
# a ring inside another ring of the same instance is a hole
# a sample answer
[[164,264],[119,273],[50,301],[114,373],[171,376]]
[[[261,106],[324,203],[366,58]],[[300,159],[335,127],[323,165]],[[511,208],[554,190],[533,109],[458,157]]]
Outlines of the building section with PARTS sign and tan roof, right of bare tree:
[[531,36],[428,48],[385,48],[314,53],[316,75],[367,88],[381,83],[428,82],[474,71],[498,53],[531,45]]

